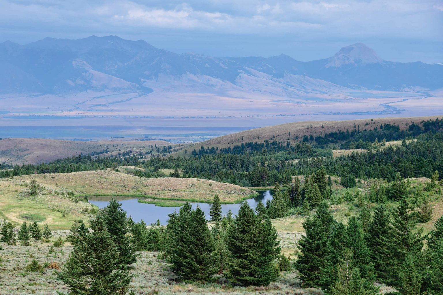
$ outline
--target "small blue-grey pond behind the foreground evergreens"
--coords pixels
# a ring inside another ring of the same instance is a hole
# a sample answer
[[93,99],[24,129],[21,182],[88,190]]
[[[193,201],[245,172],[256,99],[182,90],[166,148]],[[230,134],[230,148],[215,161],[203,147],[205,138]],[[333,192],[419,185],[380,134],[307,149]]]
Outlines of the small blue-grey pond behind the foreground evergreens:
[[[259,191],[260,195],[256,196],[253,199],[248,199],[246,202],[252,208],[257,206],[258,201],[262,201],[266,206],[266,201],[272,199],[271,191]],[[143,221],[150,225],[151,223],[157,222],[157,219],[160,220],[160,223],[163,225],[167,224],[168,217],[167,215],[174,212],[174,210],[179,211],[180,207],[159,207],[154,204],[145,204],[138,203],[138,198],[135,197],[89,197],[89,203],[97,205],[99,208],[104,208],[108,206],[109,201],[115,198],[117,201],[121,203],[121,208],[126,211],[128,216],[131,216],[134,222],[139,222],[143,219]],[[212,204],[208,203],[191,203],[192,208],[195,209],[198,206],[202,209],[206,214],[206,218],[210,218],[209,211]],[[241,204],[221,204],[221,213],[226,215],[229,209],[232,211],[233,216],[238,213]]]

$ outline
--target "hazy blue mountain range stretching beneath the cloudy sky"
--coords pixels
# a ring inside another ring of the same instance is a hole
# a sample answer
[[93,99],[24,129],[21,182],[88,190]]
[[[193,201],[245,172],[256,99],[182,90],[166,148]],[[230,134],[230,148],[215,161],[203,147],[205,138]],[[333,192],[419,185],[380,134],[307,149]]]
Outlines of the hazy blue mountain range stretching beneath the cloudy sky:
[[[269,84],[254,84],[245,77]],[[443,65],[385,61],[362,43],[343,47],[330,58],[308,62],[284,54],[273,57],[175,54],[143,40],[129,41],[117,36],[44,38],[27,45],[0,43],[2,93],[149,93],[153,88],[207,92],[217,91],[218,85],[226,83],[241,91],[267,87],[270,92],[341,87],[432,90],[443,88]]]

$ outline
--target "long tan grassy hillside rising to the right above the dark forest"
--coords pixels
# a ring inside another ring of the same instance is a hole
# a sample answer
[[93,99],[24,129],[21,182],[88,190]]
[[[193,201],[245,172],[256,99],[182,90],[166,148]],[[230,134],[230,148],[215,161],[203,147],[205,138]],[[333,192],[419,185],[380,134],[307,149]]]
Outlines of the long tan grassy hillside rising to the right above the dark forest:
[[[407,118],[375,118],[371,121],[368,119],[359,120],[345,120],[345,121],[303,121],[286,123],[276,126],[261,127],[238,133],[224,135],[218,138],[213,138],[205,142],[198,142],[187,146],[178,147],[179,151],[172,153],[174,156],[190,156],[190,151],[193,149],[200,149],[201,146],[206,147],[218,147],[226,148],[229,146],[240,145],[242,142],[264,142],[265,140],[277,140],[277,141],[290,141],[291,144],[299,142],[304,135],[310,136],[323,136],[325,133],[335,132],[338,129],[342,131],[354,130],[354,124],[360,126],[360,130],[373,129],[381,124],[393,124],[400,126],[400,130],[407,129],[411,122],[420,123],[422,120],[437,119],[441,116],[429,116],[429,117],[407,117]],[[368,124],[368,125],[366,125]],[[323,126],[323,128],[322,128]],[[309,128],[308,128],[309,127]],[[290,135],[289,135],[290,133]],[[184,150],[188,153],[185,153]]]

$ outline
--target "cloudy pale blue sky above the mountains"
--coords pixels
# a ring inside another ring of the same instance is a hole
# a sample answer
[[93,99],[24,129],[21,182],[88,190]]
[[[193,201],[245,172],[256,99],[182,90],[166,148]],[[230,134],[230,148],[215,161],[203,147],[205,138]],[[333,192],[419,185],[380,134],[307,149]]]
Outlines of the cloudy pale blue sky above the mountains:
[[117,35],[175,53],[443,63],[443,0],[0,0],[0,42]]

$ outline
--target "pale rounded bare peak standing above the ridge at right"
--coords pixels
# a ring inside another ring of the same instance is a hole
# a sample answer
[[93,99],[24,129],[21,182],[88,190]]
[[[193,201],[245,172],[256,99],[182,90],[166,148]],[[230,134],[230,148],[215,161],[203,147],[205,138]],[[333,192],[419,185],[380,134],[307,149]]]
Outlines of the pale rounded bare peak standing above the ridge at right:
[[383,60],[377,53],[363,43],[355,43],[350,46],[342,47],[333,57],[328,59],[325,68],[339,68],[342,65],[367,65],[382,63]]

